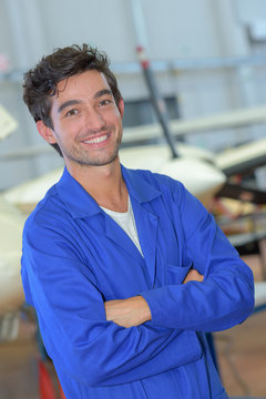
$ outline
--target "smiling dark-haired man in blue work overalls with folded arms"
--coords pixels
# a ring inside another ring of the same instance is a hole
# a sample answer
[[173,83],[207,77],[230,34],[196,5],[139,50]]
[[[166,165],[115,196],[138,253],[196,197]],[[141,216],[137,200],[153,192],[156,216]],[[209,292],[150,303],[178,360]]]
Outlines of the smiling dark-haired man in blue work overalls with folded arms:
[[204,332],[250,314],[252,272],[181,183],[120,164],[105,55],[57,50],[24,102],[65,162],[25,223],[22,280],[66,398],[227,398]]

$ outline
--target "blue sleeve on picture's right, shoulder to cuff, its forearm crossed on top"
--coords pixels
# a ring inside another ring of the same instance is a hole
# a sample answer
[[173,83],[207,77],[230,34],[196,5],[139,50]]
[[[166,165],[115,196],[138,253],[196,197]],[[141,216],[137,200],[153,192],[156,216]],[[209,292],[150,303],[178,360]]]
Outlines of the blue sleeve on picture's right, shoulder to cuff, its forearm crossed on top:
[[153,325],[217,331],[242,323],[254,307],[252,270],[193,195],[172,183],[172,198],[173,218],[180,236],[184,236],[186,256],[204,280],[185,285],[168,280],[163,287],[142,293]]

